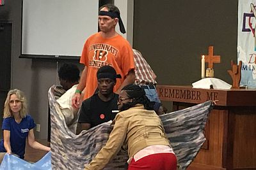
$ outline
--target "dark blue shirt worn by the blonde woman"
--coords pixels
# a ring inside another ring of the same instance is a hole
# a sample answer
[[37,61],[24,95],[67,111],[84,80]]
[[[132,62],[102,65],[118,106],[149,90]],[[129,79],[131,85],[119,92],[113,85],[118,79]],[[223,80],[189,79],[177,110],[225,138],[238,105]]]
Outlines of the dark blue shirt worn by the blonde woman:
[[[20,159],[24,159],[26,138],[30,129],[35,127],[35,122],[30,115],[22,118],[21,122],[17,124],[13,117],[4,118],[3,131],[10,131],[10,143],[12,153],[19,155]],[[0,141],[0,152],[6,152],[4,148],[3,139]]]

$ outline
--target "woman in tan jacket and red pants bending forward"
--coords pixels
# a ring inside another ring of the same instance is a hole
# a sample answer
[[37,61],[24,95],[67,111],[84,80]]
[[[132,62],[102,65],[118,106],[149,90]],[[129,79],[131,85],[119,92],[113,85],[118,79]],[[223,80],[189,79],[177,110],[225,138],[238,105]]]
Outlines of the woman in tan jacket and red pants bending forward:
[[108,142],[85,169],[103,169],[120,148],[129,155],[128,170],[174,170],[175,153],[166,138],[161,119],[151,108],[145,91],[127,85],[119,94],[118,110]]

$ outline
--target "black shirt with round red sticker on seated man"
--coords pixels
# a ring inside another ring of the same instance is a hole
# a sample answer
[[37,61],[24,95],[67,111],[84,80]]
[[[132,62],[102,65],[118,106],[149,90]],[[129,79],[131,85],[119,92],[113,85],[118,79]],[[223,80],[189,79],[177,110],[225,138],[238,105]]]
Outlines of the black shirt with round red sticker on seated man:
[[91,124],[91,128],[109,120],[114,120],[118,113],[118,94],[114,94],[110,101],[102,101],[98,94],[83,101],[79,111],[78,122],[81,124]]

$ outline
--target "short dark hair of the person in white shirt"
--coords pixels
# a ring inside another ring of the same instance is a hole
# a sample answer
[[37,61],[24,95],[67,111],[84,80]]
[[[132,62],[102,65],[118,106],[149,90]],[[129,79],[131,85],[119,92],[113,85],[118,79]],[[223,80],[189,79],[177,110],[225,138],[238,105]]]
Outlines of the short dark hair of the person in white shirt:
[[79,71],[78,67],[74,64],[64,63],[60,67],[58,74],[62,80],[67,80],[72,83],[79,81],[79,78],[80,78],[80,76],[79,76],[80,71]]

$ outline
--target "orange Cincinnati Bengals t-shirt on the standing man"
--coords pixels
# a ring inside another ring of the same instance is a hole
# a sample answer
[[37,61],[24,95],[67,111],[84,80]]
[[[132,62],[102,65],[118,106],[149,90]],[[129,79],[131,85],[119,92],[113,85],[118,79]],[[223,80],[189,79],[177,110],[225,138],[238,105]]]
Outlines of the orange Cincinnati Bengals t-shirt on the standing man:
[[134,57],[129,42],[121,35],[102,38],[100,32],[93,34],[84,43],[80,63],[87,67],[84,99],[91,97],[97,89],[97,71],[102,66],[112,66],[122,78],[116,78],[114,92],[119,89],[125,76],[134,69]]

